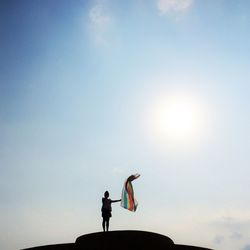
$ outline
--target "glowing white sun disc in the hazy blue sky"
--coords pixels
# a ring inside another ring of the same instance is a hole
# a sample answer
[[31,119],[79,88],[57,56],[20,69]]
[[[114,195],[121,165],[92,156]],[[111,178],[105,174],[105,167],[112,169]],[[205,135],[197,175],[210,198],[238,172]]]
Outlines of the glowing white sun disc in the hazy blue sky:
[[153,136],[168,144],[191,144],[205,128],[202,103],[192,95],[166,95],[151,107],[150,127]]

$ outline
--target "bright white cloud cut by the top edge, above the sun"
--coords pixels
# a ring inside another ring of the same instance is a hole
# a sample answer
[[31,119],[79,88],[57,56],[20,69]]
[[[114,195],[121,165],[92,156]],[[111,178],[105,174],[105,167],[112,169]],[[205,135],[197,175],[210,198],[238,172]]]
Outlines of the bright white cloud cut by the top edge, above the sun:
[[192,6],[194,0],[157,0],[157,8],[162,15],[168,12],[185,12]]

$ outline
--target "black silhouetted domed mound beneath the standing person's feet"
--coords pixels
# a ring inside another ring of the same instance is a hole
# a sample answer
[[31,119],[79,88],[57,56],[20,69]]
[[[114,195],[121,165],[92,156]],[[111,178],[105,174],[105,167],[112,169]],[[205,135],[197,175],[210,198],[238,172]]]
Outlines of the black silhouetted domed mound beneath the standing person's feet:
[[47,245],[26,250],[211,250],[174,244],[167,236],[145,231],[110,231],[85,234],[75,243]]

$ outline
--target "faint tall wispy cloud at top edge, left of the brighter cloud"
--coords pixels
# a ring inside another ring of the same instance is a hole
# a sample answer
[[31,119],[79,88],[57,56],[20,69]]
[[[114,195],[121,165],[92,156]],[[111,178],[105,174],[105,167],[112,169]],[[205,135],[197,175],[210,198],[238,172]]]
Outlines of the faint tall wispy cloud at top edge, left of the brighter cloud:
[[105,1],[99,0],[91,7],[88,15],[91,34],[93,35],[95,42],[98,44],[106,42],[107,33],[112,25],[112,19],[107,14],[105,7]]

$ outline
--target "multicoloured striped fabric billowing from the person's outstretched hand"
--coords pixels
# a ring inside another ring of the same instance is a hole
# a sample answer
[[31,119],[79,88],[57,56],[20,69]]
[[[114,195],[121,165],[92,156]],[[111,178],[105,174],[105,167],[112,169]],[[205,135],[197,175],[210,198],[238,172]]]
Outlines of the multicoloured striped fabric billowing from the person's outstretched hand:
[[125,209],[128,209],[129,211],[136,211],[136,208],[138,206],[138,202],[136,201],[134,197],[134,190],[132,186],[132,181],[139,178],[139,174],[131,175],[129,176],[123,186],[122,189],[122,197],[121,197],[121,206]]

